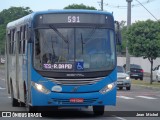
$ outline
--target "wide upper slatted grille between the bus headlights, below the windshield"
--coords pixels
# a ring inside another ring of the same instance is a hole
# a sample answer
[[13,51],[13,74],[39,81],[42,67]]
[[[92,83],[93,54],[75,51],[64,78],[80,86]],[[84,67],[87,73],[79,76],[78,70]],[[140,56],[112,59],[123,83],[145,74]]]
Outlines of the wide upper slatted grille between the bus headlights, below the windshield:
[[48,80],[56,83],[57,85],[89,85],[95,84],[104,77],[100,78],[86,78],[86,79],[54,79],[54,78],[47,78]]

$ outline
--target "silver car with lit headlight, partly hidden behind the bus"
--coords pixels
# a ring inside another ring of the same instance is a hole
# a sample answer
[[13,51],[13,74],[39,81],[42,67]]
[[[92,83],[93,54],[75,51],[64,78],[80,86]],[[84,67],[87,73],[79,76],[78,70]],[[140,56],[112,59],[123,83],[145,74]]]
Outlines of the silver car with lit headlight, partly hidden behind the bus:
[[117,66],[117,87],[122,90],[123,87],[126,90],[131,89],[131,79],[129,75],[125,72],[123,66]]

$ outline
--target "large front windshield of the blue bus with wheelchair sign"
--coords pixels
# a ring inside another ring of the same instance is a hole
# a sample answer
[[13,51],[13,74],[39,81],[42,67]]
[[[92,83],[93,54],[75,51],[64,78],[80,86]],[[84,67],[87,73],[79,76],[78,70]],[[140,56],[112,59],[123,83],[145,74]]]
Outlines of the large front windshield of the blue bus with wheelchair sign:
[[35,29],[34,68],[58,72],[112,70],[114,32],[107,28]]

